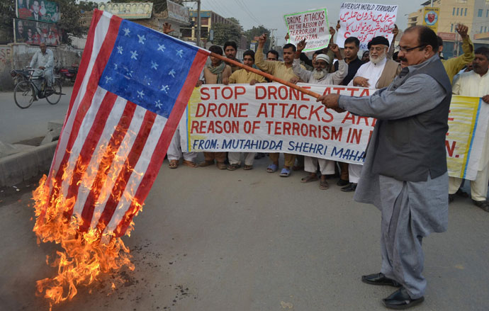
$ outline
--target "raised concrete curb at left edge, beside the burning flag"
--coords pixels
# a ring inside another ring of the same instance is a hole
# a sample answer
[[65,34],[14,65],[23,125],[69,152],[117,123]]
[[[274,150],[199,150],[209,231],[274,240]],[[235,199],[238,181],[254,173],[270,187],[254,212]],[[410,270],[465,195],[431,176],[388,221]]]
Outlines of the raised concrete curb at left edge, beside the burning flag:
[[0,187],[13,186],[42,171],[48,171],[55,156],[57,141],[18,152],[0,159]]

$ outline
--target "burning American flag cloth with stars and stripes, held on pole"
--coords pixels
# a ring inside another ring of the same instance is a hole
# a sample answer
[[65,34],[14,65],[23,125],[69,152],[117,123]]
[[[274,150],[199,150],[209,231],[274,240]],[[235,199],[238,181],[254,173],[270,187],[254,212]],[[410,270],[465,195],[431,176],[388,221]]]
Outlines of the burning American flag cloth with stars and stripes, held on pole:
[[95,10],[50,175],[80,231],[125,234],[209,52]]

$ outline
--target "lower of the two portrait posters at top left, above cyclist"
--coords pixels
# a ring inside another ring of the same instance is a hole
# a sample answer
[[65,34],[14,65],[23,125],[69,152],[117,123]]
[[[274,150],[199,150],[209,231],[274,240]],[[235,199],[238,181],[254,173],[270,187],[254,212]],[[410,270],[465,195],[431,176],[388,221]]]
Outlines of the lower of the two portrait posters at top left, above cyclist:
[[60,45],[62,30],[55,24],[13,18],[13,39],[31,45]]

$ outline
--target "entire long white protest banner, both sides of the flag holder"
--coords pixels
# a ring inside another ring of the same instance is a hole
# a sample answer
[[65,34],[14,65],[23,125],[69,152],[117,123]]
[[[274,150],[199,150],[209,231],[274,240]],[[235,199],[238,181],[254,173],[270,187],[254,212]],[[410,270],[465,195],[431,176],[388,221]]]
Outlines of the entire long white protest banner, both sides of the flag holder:
[[[369,96],[354,86],[300,84],[317,94]],[[446,134],[449,176],[473,180],[488,126],[489,105],[453,96]],[[325,109],[282,84],[203,85],[180,122],[183,151],[286,152],[363,164],[376,120]]]

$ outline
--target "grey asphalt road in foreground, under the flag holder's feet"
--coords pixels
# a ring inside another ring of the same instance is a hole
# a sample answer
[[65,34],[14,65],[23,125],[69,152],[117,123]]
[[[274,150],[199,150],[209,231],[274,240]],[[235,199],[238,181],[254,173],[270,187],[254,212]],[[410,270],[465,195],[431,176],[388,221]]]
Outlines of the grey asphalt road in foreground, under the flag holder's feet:
[[[320,191],[300,183],[303,173],[266,173],[267,164],[220,171],[165,161],[125,237],[135,271],[120,273],[115,291],[101,281],[53,310],[384,310],[395,288],[360,281],[380,269],[379,211],[336,180]],[[57,247],[36,243],[33,186],[19,187],[0,202],[0,310],[47,310],[35,281],[55,275],[45,258]],[[489,310],[488,223],[468,198],[450,205],[448,232],[423,241],[428,288],[413,310]]]

